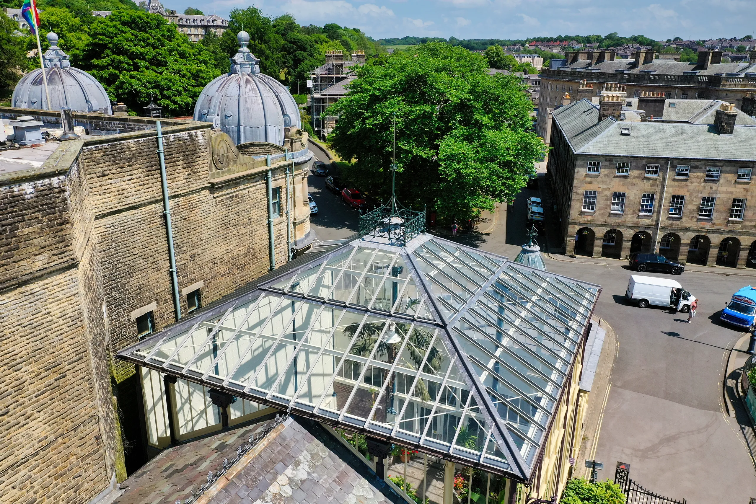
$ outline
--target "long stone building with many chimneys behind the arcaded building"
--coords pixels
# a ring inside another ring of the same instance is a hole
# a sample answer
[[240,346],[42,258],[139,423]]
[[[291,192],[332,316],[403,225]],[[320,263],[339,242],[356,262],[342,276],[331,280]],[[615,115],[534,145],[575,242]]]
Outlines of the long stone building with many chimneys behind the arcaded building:
[[578,51],[564,60],[550,60],[541,70],[541,96],[536,132],[548,145],[551,113],[565,93],[574,96],[580,83],[593,85],[598,96],[603,84],[624,85],[627,97],[662,93],[674,100],[724,100],[743,107],[743,97],[756,92],[756,51],[749,60],[722,63],[722,51],[699,51],[696,63],[657,59],[654,51],[636,51],[632,59],[617,59],[615,51]]

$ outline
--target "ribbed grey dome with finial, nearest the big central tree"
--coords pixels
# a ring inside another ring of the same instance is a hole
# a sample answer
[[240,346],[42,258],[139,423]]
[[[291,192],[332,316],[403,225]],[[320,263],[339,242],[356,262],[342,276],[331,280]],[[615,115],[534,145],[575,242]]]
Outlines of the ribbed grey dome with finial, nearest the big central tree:
[[301,128],[299,107],[289,90],[260,73],[260,60],[249,52],[249,34],[239,32],[239,51],[231,71],[212,80],[194,106],[194,120],[216,122],[234,142],[283,145],[283,128]]

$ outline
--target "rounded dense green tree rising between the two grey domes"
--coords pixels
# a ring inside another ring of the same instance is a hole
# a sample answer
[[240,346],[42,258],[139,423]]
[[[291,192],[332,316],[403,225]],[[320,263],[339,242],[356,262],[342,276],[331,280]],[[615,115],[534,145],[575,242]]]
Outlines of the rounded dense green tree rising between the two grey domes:
[[190,115],[202,88],[220,75],[212,53],[156,14],[115,11],[89,28],[76,66],[104,86],[111,99],[142,112],[153,94],[169,116]]

